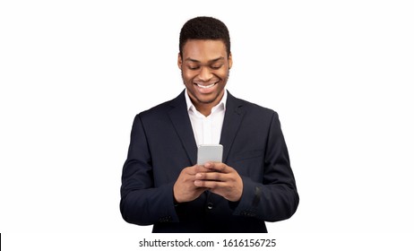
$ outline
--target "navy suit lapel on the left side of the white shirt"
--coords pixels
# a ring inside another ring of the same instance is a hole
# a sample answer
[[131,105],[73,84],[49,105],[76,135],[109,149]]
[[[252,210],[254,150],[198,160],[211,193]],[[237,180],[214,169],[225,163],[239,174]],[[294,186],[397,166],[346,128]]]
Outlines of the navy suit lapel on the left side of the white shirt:
[[187,152],[188,159],[195,165],[197,158],[197,145],[194,139],[193,127],[185,104],[185,92],[172,100],[173,108],[168,112],[168,116],[174,125],[176,132]]

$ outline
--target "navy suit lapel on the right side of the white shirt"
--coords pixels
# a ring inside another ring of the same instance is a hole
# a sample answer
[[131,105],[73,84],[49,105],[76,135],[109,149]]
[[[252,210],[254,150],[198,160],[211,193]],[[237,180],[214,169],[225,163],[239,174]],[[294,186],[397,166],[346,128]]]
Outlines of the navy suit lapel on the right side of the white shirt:
[[221,129],[220,144],[223,145],[223,162],[226,163],[229,151],[236,137],[238,127],[245,115],[242,103],[233,97],[228,91],[226,101],[226,113],[224,115],[223,128]]

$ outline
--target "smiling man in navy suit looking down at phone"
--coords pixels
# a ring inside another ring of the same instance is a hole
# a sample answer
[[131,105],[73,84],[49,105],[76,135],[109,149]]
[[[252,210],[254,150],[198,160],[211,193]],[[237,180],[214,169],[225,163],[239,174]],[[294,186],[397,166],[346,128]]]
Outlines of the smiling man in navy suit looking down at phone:
[[[178,67],[185,91],[138,114],[125,161],[125,221],[153,232],[267,232],[298,193],[276,112],[226,91],[229,30],[211,17],[185,22]],[[223,145],[223,162],[196,165],[197,145]]]

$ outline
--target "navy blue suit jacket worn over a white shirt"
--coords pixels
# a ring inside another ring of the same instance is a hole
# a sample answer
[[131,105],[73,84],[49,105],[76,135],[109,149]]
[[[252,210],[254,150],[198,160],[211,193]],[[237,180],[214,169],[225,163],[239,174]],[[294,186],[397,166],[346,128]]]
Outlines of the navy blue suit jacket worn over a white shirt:
[[267,232],[264,221],[296,212],[298,192],[278,114],[228,94],[220,143],[223,162],[242,177],[240,201],[207,191],[174,204],[174,183],[197,157],[183,91],[134,119],[122,174],[125,221],[153,224],[153,232]]

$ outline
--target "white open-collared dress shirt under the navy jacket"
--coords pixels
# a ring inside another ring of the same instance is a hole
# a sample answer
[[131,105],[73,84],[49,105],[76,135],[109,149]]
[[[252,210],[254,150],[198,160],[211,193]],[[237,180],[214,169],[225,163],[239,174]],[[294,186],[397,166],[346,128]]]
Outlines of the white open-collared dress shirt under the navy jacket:
[[224,95],[220,103],[211,108],[211,114],[205,117],[194,107],[185,89],[188,116],[190,117],[195,143],[197,145],[220,143],[221,127],[223,126],[224,112],[226,111],[226,100],[227,91],[224,90]]

